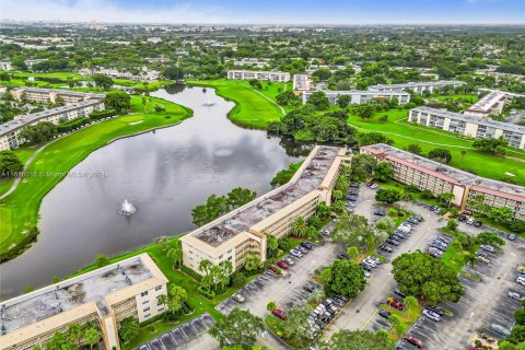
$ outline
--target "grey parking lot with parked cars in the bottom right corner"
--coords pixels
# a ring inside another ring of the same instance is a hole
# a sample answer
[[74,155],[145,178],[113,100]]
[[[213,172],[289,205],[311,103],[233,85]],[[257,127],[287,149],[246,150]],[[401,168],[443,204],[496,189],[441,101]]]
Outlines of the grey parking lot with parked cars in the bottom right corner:
[[491,324],[512,328],[520,302],[511,299],[509,292],[525,293],[525,288],[515,282],[516,267],[523,262],[525,245],[508,242],[503,250],[503,254],[488,253],[489,264],[478,262],[465,268],[479,276],[479,281],[459,275],[464,295],[458,303],[443,304],[452,312],[452,317],[444,316],[439,323],[421,317],[415,324],[410,334],[420,338],[425,349],[469,349],[476,332],[502,338],[490,328]]

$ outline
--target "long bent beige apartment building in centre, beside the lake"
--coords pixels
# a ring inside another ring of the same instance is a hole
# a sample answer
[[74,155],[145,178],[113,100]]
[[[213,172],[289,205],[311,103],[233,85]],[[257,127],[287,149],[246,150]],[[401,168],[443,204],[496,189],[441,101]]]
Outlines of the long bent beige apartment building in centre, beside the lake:
[[322,201],[329,205],[347,160],[345,149],[316,147],[288,184],[180,237],[183,264],[201,273],[202,259],[214,265],[230,260],[234,269],[244,265],[248,253],[265,261],[267,235],[282,237],[298,217],[310,218]]

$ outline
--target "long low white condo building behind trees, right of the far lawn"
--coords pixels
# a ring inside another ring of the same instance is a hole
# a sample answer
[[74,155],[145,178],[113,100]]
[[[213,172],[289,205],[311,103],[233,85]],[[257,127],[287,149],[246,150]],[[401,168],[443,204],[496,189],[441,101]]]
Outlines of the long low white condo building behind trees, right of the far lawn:
[[[337,97],[342,95],[350,96],[350,104],[352,105],[360,105],[363,103],[371,103],[374,98],[386,98],[392,100],[394,97],[397,98],[399,105],[405,105],[410,102],[410,94],[405,91],[359,91],[359,90],[348,90],[348,91],[331,91],[331,90],[322,90],[330,104],[335,105],[337,103]],[[315,91],[305,91],[303,92],[303,103],[306,103],[310,96]]]

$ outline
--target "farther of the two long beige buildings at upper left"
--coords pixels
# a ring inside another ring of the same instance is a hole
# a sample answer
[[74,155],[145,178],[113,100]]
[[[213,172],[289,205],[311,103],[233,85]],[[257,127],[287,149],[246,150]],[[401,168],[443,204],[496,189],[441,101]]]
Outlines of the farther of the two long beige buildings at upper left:
[[104,100],[106,95],[91,92],[77,92],[67,90],[51,90],[42,88],[19,88],[11,90],[11,95],[16,101],[31,101],[38,103],[56,103],[57,97],[62,97],[66,104],[78,103],[88,100]]

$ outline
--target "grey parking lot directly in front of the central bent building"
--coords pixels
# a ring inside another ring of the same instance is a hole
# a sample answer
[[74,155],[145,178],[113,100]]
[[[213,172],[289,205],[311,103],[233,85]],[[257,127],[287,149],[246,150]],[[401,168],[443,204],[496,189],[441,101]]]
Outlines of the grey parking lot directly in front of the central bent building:
[[342,248],[338,245],[326,243],[315,247],[302,258],[293,257],[295,265],[284,270],[285,276],[279,277],[271,271],[266,271],[238,291],[246,299],[244,303],[240,304],[230,298],[215,308],[228,314],[233,307],[238,306],[249,310],[259,317],[265,317],[266,305],[273,301],[287,312],[294,303],[307,299],[310,293],[303,290],[303,285],[311,280],[315,269],[322,270],[330,265],[339,252],[342,252]]

